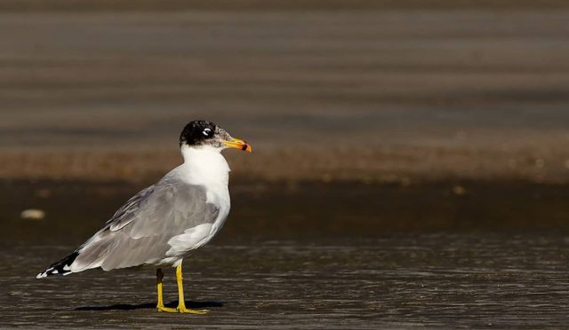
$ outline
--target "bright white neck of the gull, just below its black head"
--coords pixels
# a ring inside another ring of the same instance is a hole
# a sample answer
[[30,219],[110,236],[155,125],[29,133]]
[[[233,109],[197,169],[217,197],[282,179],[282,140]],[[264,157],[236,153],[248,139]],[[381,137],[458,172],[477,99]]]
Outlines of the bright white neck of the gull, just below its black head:
[[199,147],[182,145],[181,155],[184,163],[180,169],[188,183],[227,187],[231,169],[219,149],[208,145]]

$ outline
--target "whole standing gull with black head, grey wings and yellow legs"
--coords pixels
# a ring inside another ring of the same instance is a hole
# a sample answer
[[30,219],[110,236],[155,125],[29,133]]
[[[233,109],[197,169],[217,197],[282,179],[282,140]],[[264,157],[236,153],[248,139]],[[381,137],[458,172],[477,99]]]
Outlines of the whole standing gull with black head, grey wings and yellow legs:
[[[251,145],[232,138],[213,122],[188,122],[180,134],[184,162],[155,185],[127,200],[92,238],[37,279],[101,268],[111,271],[135,266],[156,268],[156,309],[204,314],[184,302],[181,263],[220,231],[229,213],[229,166],[226,148],[251,153]],[[178,307],[164,306],[163,267],[176,268]]]

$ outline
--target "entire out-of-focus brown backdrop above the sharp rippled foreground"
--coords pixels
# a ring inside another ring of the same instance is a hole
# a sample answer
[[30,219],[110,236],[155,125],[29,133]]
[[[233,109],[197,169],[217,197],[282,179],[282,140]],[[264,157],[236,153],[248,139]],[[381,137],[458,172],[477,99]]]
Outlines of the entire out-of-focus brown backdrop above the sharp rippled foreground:
[[4,1],[0,235],[83,241],[195,119],[254,146],[221,240],[566,228],[567,6]]

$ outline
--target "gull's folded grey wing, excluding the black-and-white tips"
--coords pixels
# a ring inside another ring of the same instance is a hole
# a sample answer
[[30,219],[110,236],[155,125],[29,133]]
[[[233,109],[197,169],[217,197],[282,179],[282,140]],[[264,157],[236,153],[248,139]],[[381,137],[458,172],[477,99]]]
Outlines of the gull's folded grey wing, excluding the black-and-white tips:
[[215,222],[219,208],[206,199],[203,186],[164,177],[128,200],[78,249],[71,271],[158,263],[168,256],[173,237]]

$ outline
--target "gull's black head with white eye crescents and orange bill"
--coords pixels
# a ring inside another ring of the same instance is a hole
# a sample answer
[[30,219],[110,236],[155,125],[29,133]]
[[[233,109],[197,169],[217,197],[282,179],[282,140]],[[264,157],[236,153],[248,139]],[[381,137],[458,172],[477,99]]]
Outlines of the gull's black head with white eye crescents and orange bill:
[[188,122],[180,134],[180,147],[184,145],[212,146],[219,150],[231,147],[251,152],[251,145],[238,138],[232,138],[228,132],[207,121]]

